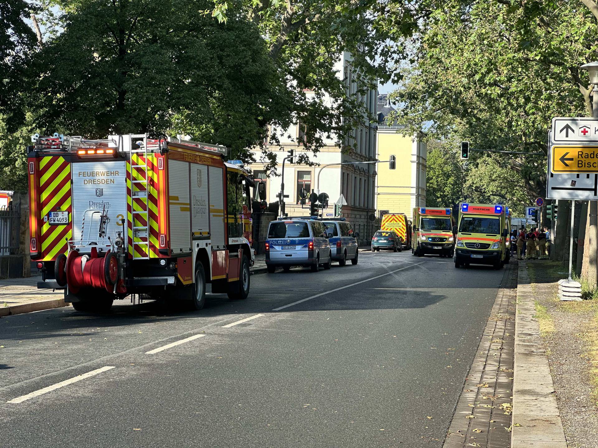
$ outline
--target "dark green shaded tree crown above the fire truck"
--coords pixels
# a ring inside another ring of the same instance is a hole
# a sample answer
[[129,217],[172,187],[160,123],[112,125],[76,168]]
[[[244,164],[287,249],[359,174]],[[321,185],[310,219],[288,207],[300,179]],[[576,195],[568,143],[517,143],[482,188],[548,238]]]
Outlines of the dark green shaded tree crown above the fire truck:
[[236,15],[218,23],[191,0],[60,3],[62,33],[30,69],[29,104],[45,133],[190,134],[232,148],[288,125],[291,96],[257,27]]

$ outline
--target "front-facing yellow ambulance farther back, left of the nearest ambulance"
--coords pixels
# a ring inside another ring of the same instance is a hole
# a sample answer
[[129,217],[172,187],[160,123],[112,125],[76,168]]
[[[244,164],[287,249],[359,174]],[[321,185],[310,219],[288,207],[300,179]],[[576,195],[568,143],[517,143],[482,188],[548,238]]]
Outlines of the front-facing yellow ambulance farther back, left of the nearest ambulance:
[[450,208],[415,207],[411,225],[411,253],[421,257],[454,254],[453,214]]

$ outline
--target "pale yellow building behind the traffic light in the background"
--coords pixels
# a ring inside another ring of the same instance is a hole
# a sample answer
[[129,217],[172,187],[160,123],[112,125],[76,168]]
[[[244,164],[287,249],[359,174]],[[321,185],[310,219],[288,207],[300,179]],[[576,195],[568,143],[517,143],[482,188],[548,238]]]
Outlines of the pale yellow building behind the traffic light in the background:
[[426,143],[421,136],[401,134],[403,126],[386,124],[386,116],[395,109],[388,96],[378,96],[376,158],[396,157],[395,170],[388,163],[377,165],[376,217],[385,213],[405,213],[413,220],[413,208],[426,205]]

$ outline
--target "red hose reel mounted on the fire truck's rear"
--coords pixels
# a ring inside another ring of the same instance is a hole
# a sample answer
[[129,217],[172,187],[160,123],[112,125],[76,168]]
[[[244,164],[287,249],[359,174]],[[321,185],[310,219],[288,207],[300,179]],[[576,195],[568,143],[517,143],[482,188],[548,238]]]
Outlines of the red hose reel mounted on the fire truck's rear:
[[[57,259],[56,263],[58,262]],[[66,278],[57,277],[56,280],[59,284],[62,281],[68,284],[72,293],[77,293],[81,288],[100,288],[113,293],[114,285],[118,281],[118,259],[110,250],[100,258],[95,247],[91,248],[89,255],[81,255],[76,250],[71,250],[66,257],[66,269],[63,272]],[[124,289],[122,283],[120,280],[117,287],[119,292]]]

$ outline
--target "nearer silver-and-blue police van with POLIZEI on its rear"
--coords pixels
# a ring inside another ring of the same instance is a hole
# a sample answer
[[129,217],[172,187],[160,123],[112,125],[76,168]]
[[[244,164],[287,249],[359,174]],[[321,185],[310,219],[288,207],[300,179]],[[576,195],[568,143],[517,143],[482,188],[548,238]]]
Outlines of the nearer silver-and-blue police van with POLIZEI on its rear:
[[282,267],[309,266],[318,272],[320,265],[330,269],[332,257],[326,229],[312,217],[285,218],[270,222],[266,240],[268,272]]

